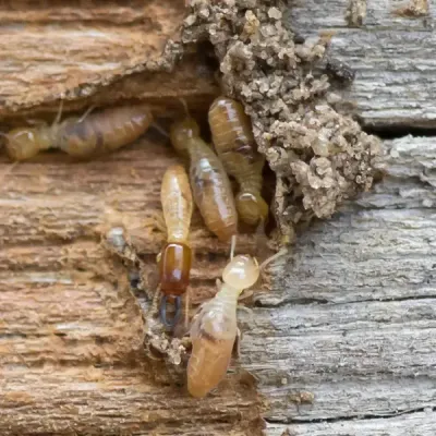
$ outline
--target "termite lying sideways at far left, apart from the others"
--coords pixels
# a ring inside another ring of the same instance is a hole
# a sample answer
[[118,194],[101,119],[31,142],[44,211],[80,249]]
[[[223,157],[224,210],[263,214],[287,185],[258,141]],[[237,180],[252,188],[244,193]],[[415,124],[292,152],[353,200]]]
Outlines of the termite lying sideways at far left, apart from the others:
[[147,105],[121,106],[97,113],[69,117],[60,122],[61,110],[51,125],[19,128],[7,133],[5,147],[13,160],[25,160],[49,148],[86,158],[112,152],[138,138],[150,126]]

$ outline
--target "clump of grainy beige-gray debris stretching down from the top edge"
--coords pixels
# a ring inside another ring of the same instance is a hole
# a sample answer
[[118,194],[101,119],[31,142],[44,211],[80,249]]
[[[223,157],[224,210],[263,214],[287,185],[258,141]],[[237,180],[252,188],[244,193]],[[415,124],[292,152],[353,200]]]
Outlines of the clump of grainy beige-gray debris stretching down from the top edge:
[[329,38],[299,44],[284,27],[280,1],[194,0],[182,41],[209,40],[225,93],[243,102],[261,153],[276,172],[275,217],[292,238],[295,225],[328,218],[372,186],[379,141],[332,107],[327,75],[312,71]]

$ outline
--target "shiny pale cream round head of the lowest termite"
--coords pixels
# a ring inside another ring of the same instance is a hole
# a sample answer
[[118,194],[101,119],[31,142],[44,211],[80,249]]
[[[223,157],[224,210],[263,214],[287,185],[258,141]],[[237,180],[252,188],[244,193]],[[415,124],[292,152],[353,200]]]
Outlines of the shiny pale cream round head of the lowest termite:
[[222,280],[234,289],[251,288],[259,278],[261,269],[257,261],[247,255],[234,256],[222,272]]

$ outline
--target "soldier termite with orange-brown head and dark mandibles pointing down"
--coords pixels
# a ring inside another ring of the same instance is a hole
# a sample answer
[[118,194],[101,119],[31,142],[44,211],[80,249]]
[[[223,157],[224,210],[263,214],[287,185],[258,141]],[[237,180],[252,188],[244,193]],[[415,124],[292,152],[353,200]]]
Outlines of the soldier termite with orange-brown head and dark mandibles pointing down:
[[[173,165],[164,174],[160,201],[167,227],[167,243],[158,256],[160,291],[160,319],[167,327],[173,327],[180,317],[181,295],[190,283],[192,252],[187,238],[193,211],[193,199],[186,171]],[[172,322],[167,319],[167,302],[172,301],[175,314]],[[187,304],[187,296],[186,296]],[[185,311],[187,316],[187,311]]]

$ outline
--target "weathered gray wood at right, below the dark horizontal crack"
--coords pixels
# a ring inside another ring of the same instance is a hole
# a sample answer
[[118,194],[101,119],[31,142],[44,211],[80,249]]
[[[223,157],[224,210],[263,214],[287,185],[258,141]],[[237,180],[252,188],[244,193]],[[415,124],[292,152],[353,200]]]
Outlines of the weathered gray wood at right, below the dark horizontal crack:
[[436,147],[385,145],[385,180],[299,238],[242,326],[267,434],[436,432]]

